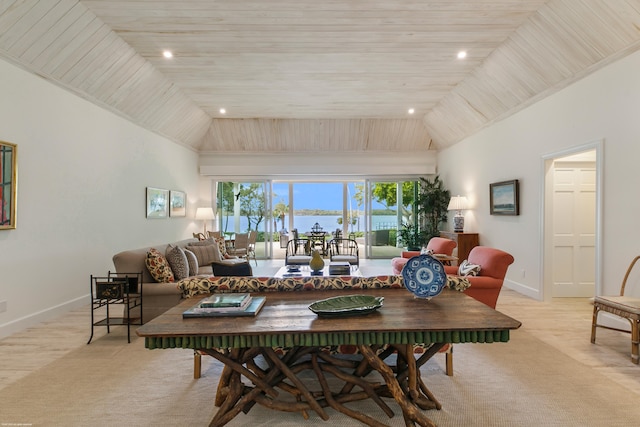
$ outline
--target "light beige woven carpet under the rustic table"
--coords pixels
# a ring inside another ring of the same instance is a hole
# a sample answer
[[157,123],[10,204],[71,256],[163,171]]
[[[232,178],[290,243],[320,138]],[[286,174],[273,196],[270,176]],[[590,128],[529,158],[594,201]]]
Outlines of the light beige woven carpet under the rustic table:
[[[220,363],[203,357],[203,376],[195,380],[191,351],[147,350],[137,337],[127,345],[124,334],[116,329],[0,390],[0,425],[208,425]],[[443,406],[427,412],[439,426],[627,426],[640,419],[636,393],[525,330],[508,343],[456,345],[454,360],[453,377],[444,375],[443,355],[422,368]],[[404,426],[398,406],[387,401],[397,414],[392,419],[369,402],[349,406]],[[314,413],[304,420],[255,406],[228,425],[361,425],[327,411],[323,423]]]

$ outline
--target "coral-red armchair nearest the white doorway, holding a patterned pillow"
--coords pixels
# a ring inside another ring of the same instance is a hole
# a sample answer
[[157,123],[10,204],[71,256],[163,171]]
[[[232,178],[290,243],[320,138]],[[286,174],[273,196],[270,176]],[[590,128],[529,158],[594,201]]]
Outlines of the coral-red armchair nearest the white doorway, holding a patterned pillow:
[[[471,287],[464,293],[491,308],[496,308],[507,269],[514,261],[513,256],[500,249],[476,246],[469,252],[468,261],[471,264],[479,265],[480,273],[477,276],[467,276]],[[445,265],[444,270],[447,274],[458,274],[456,266]]]

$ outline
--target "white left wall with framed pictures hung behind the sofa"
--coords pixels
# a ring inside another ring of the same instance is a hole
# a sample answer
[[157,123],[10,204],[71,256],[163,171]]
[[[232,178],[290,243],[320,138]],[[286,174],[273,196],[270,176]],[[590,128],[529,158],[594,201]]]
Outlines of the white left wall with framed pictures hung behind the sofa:
[[[111,257],[190,237],[198,156],[0,60],[0,140],[18,144],[17,229],[0,230],[0,337],[89,302]],[[145,187],[187,193],[186,218],[147,220]],[[87,318],[87,331],[89,318]]]

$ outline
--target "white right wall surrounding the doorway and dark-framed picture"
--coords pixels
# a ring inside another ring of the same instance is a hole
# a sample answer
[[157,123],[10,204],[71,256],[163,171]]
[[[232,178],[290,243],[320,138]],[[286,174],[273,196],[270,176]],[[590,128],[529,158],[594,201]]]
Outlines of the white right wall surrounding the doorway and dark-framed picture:
[[[514,255],[507,286],[542,298],[542,157],[603,140],[602,285],[603,293],[619,291],[640,253],[639,75],[636,52],[439,153],[447,187],[473,203],[465,231]],[[489,184],[509,179],[520,180],[520,216],[489,215]]]

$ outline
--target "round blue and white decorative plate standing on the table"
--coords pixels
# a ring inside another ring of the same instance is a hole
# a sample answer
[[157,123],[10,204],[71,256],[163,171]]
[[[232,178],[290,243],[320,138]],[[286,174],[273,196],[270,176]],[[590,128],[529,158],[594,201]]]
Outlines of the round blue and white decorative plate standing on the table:
[[447,274],[440,261],[431,255],[410,258],[402,269],[404,286],[418,298],[431,299],[447,284]]

